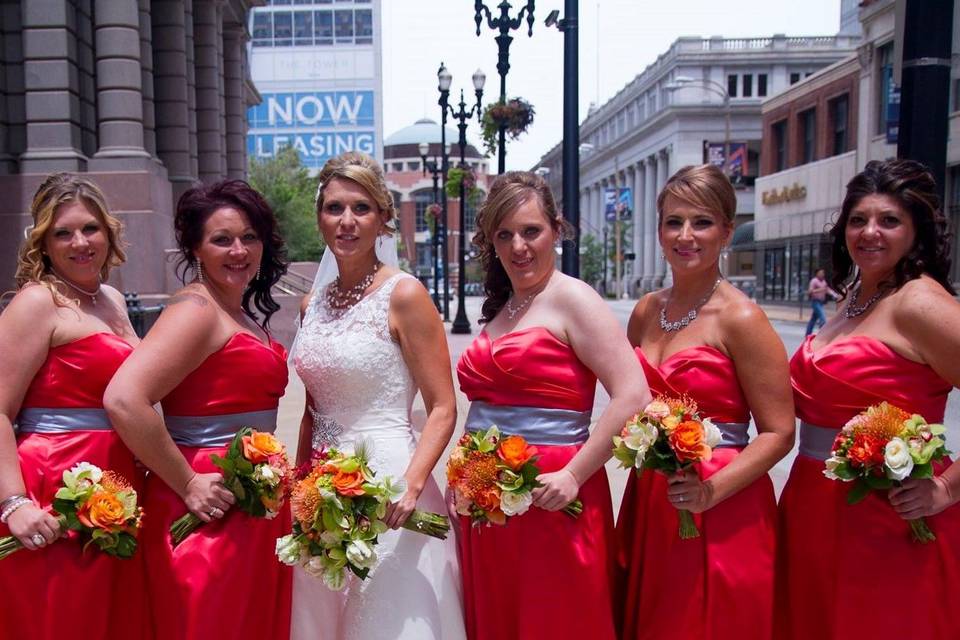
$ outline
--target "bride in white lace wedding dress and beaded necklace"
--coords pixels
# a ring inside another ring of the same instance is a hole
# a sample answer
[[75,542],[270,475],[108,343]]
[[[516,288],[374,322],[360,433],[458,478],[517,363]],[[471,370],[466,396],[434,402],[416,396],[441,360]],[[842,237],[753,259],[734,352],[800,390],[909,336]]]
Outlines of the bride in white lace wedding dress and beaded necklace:
[[[377,163],[347,153],[327,162],[319,179],[317,215],[327,254],[291,349],[307,390],[298,462],[312,449],[350,451],[366,439],[378,478],[406,482],[387,512],[388,525],[398,527],[414,508],[445,514],[431,476],[456,420],[443,324],[426,289],[378,256],[386,253],[385,238],[393,242],[394,208]],[[419,438],[410,426],[418,389],[427,409]],[[376,552],[367,579],[350,574],[343,591],[295,568],[294,640],[465,637],[452,531],[437,540],[393,528],[379,537]]]

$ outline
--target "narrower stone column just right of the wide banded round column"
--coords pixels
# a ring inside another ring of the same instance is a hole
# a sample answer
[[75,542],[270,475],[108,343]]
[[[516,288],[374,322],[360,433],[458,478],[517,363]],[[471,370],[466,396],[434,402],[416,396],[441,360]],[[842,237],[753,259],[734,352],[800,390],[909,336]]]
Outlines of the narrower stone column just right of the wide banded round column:
[[184,0],[153,0],[157,155],[167,167],[176,200],[196,179],[190,164]]

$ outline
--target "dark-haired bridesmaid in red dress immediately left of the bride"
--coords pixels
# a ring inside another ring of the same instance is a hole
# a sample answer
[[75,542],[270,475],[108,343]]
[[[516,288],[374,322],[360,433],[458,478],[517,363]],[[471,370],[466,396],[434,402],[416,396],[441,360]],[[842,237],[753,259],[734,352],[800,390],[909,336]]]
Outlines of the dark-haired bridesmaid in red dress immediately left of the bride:
[[[276,429],[286,352],[263,338],[278,308],[270,288],[285,271],[283,245],[269,206],[241,181],[187,191],[175,224],[197,279],[170,299],[104,396],[151,472],[143,538],[157,636],[286,638],[292,574],[274,549],[290,530],[289,510],[267,520],[231,509],[210,461],[241,427]],[[188,511],[208,524],[174,549],[170,525]]]

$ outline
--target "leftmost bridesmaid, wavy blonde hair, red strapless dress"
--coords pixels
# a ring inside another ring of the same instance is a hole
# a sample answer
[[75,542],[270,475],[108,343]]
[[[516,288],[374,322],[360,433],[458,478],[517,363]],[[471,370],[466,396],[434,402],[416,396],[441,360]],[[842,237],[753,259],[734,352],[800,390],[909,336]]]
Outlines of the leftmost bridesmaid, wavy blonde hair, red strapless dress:
[[123,475],[142,504],[143,473],[103,410],[138,342],[123,296],[100,285],[123,261],[119,222],[67,174],[43,182],[33,219],[0,316],[0,536],[26,547],[0,560],[0,638],[150,638],[142,546],[129,559],[84,551],[46,511],[79,462]]

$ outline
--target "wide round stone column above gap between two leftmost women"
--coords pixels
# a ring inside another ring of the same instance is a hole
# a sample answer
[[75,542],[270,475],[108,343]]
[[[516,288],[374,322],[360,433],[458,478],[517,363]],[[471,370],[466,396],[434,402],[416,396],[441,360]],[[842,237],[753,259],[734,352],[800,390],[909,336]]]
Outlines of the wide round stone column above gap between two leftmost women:
[[91,169],[139,168],[150,159],[143,146],[140,7],[137,0],[96,0],[94,16],[99,145]]

